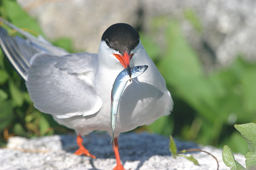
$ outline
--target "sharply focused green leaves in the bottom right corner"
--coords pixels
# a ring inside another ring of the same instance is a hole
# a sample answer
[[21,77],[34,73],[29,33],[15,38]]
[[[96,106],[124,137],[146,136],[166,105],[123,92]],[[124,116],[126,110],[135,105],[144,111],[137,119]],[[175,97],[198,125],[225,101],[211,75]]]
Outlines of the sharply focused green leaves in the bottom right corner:
[[[235,125],[237,131],[245,138],[249,152],[245,154],[246,168],[250,169],[256,167],[256,124],[246,123],[242,125]],[[239,162],[235,160],[232,150],[228,146],[223,147],[222,159],[226,166],[231,167],[232,170],[245,170]]]

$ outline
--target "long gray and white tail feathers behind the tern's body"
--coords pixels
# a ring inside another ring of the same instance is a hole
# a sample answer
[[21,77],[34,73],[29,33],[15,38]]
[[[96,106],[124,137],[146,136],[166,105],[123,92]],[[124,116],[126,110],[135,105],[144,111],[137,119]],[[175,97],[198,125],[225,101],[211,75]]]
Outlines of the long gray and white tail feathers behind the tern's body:
[[10,36],[4,28],[0,27],[0,45],[13,67],[25,81],[27,80],[27,71],[30,68],[30,60],[33,55],[40,52],[56,56],[68,54],[66,50],[50,44],[41,36],[36,38],[1,17],[0,21],[24,37]]

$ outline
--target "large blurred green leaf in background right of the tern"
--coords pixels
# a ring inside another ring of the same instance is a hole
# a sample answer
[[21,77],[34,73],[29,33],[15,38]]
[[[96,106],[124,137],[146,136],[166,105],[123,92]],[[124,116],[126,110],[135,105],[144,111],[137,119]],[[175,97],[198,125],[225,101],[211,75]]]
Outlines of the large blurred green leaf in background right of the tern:
[[176,95],[189,103],[207,121],[214,123],[219,90],[203,76],[202,64],[195,51],[187,44],[180,31],[180,25],[173,21],[166,29],[166,50],[157,67],[173,87]]

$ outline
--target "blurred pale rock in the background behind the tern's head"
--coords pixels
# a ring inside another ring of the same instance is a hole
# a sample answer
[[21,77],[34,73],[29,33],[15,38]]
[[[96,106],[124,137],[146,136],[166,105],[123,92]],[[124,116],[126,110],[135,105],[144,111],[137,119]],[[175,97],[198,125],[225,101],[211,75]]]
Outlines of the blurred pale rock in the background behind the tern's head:
[[[255,0],[17,1],[39,21],[48,38],[70,37],[76,49],[87,52],[97,52],[104,30],[118,22],[132,24],[161,44],[163,29],[156,30],[152,23],[166,17],[180,21],[184,36],[206,65],[230,63],[238,54],[256,58]],[[188,9],[195,12],[202,31],[186,19]]]

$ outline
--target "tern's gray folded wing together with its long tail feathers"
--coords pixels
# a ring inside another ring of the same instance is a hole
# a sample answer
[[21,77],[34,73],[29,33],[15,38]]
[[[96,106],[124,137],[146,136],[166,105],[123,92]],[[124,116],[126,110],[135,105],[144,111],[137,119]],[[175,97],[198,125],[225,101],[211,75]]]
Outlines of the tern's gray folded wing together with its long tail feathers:
[[92,115],[102,101],[94,90],[97,55],[69,54],[43,37],[34,37],[0,17],[20,36],[10,36],[0,27],[0,45],[26,81],[34,106],[58,118]]

